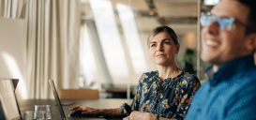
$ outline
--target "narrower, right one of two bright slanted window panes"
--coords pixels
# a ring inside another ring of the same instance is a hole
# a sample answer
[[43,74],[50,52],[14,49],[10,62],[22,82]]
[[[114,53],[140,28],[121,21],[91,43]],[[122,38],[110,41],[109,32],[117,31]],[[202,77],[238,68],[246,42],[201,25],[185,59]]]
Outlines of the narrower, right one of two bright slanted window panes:
[[137,74],[142,74],[147,70],[147,67],[132,9],[123,4],[116,4],[116,8],[128,45],[132,67]]

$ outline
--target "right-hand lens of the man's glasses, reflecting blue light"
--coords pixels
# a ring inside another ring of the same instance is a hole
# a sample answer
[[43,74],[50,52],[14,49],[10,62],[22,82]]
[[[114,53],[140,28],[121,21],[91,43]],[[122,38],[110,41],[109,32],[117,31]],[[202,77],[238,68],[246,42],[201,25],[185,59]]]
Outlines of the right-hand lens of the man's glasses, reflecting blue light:
[[220,30],[222,31],[230,31],[233,25],[234,19],[233,17],[218,17],[218,24]]

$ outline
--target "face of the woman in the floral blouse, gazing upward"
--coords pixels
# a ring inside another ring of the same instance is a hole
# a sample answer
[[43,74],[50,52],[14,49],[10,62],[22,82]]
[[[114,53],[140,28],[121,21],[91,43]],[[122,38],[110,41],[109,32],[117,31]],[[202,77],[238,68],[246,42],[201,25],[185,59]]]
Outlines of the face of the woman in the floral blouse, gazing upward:
[[151,60],[161,66],[175,64],[175,54],[179,52],[179,44],[175,45],[172,37],[166,32],[160,32],[149,44]]

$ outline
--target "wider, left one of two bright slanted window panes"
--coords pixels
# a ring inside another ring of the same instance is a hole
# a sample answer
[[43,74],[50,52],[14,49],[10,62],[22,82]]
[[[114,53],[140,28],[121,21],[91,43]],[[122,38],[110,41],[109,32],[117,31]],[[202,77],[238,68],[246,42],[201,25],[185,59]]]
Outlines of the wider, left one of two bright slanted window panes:
[[127,83],[128,65],[114,18],[111,1],[90,0],[98,37],[113,83]]

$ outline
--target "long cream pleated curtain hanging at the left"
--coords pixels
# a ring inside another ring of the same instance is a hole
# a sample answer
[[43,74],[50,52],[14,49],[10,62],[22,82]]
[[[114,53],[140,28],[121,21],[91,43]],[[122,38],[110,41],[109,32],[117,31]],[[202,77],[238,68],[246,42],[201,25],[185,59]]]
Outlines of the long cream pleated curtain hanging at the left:
[[80,0],[0,0],[0,7],[2,17],[27,22],[28,98],[53,98],[49,79],[57,89],[78,88]]

